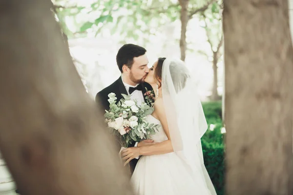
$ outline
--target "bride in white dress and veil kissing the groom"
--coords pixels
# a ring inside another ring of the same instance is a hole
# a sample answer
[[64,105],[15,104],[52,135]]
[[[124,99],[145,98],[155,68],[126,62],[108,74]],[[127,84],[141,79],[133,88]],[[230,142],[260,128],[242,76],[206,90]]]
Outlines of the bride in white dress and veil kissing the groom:
[[160,124],[154,144],[126,148],[126,164],[141,156],[131,182],[137,195],[216,195],[200,138],[208,125],[194,80],[181,60],[159,58],[145,79],[156,94],[149,123]]

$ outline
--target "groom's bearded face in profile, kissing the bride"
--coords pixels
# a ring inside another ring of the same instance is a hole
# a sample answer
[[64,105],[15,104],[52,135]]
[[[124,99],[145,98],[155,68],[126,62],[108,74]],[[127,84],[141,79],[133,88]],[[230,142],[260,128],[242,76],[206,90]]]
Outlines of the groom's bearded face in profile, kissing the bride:
[[147,64],[146,54],[133,58],[133,64],[129,73],[129,78],[132,82],[141,83],[145,81],[146,75],[149,72]]

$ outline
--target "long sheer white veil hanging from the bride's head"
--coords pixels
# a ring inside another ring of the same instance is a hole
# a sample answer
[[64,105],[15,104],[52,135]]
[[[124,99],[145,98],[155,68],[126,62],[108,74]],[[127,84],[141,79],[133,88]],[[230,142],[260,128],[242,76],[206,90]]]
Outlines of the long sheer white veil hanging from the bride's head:
[[206,186],[204,194],[216,195],[204,166],[200,140],[208,125],[195,80],[183,61],[164,60],[162,96],[174,152],[183,160],[194,181]]

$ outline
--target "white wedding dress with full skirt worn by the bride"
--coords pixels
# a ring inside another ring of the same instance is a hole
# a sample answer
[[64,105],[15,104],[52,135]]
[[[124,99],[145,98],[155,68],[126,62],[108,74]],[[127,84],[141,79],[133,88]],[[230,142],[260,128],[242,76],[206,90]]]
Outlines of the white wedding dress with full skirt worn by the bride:
[[[161,124],[149,115],[147,122]],[[162,127],[151,137],[155,142],[167,140]],[[190,172],[176,153],[140,157],[131,177],[136,195],[211,195],[201,169]],[[194,176],[195,175],[195,176]]]

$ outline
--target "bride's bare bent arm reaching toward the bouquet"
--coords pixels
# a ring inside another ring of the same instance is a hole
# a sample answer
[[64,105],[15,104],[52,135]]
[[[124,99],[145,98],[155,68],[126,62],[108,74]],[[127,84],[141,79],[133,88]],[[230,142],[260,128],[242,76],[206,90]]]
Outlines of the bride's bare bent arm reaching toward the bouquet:
[[159,98],[155,101],[154,108],[155,108],[156,115],[158,119],[160,120],[168,139],[161,143],[139,147],[140,156],[162,155],[162,154],[173,152],[173,146],[170,139],[170,133],[169,133],[169,128],[167,124],[167,117],[165,114],[164,103],[162,98]]

